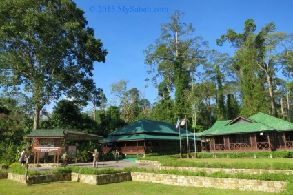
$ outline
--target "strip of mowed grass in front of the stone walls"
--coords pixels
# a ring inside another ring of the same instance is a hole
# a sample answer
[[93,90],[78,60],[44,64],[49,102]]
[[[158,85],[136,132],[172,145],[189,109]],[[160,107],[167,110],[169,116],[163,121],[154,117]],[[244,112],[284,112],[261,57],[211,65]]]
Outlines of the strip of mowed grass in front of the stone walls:
[[252,191],[238,191],[230,189],[215,189],[210,187],[181,187],[174,185],[163,185],[148,182],[127,181],[121,183],[112,183],[108,185],[89,185],[78,183],[75,181],[44,183],[39,185],[29,185],[10,181],[7,179],[0,180],[0,194],[128,194],[128,195],[142,195],[142,194],[225,194],[225,195],[268,195],[274,193],[268,192],[252,192]]

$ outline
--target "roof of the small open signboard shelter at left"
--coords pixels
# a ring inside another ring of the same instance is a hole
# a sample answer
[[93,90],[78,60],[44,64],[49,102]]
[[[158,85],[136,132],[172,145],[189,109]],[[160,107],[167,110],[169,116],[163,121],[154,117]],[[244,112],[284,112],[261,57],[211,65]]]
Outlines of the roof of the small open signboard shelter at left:
[[79,132],[77,130],[41,129],[32,132],[23,138],[66,138],[68,140],[99,140],[102,136]]

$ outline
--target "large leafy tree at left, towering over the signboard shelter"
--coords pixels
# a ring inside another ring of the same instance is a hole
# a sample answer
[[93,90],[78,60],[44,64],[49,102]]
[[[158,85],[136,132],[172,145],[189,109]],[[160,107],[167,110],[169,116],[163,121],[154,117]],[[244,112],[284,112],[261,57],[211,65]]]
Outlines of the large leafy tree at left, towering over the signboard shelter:
[[71,0],[0,1],[0,83],[23,86],[34,107],[34,129],[44,105],[63,94],[88,101],[94,61],[103,43]]

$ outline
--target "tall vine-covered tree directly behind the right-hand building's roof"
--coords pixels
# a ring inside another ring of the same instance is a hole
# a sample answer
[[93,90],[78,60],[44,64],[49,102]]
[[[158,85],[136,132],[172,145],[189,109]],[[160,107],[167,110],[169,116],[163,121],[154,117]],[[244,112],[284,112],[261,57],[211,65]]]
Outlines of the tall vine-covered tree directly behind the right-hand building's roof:
[[259,69],[258,52],[256,47],[255,32],[256,24],[254,20],[245,21],[243,33],[237,34],[229,29],[227,34],[217,39],[218,45],[223,45],[225,41],[230,41],[236,48],[234,54],[234,70],[236,70],[240,81],[241,100],[243,108],[241,115],[251,116],[257,112],[267,112],[267,101],[265,99],[265,78]]

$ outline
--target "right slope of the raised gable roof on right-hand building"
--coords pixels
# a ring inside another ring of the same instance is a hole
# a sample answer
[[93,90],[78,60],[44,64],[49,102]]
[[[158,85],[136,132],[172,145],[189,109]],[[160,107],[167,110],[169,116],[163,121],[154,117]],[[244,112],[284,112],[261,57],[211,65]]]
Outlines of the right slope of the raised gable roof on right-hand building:
[[259,123],[263,123],[265,125],[268,125],[277,131],[293,130],[293,123],[290,123],[288,121],[284,121],[282,119],[278,119],[274,116],[263,114],[261,112],[259,112],[258,114],[255,114],[253,116],[250,116],[249,119],[252,119],[253,121],[257,121]]

